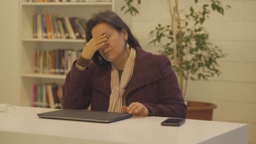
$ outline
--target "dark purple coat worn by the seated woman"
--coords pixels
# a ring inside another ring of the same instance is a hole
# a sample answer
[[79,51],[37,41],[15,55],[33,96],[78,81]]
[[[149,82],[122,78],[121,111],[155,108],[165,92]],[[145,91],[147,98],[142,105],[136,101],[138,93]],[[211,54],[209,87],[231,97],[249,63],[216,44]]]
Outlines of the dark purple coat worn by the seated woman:
[[[106,69],[91,63],[81,71],[73,63],[63,85],[61,104],[64,109],[107,111],[109,106],[111,66]],[[136,48],[136,59],[126,105],[139,102],[150,116],[185,118],[187,106],[178,86],[177,77],[166,56],[153,55]]]

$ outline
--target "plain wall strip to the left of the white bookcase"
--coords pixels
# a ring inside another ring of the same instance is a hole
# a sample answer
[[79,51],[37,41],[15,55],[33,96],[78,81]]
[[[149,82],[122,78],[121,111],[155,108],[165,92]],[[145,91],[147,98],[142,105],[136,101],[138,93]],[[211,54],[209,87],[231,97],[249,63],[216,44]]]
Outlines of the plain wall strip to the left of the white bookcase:
[[0,103],[20,104],[19,3],[0,1]]

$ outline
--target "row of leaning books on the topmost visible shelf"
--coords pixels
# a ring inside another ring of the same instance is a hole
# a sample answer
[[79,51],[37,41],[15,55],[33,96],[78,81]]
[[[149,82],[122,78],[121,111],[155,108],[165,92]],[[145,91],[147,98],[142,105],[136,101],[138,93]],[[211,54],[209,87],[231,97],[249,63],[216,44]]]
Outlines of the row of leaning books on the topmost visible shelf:
[[36,14],[33,17],[33,38],[85,39],[85,27],[84,18]]

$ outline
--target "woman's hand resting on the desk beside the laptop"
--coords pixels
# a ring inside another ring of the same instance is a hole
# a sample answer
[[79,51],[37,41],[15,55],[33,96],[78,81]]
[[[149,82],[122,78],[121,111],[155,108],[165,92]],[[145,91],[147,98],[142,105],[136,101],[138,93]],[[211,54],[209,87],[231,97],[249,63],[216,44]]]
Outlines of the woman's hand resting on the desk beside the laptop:
[[141,103],[131,103],[129,106],[122,106],[122,109],[128,113],[139,116],[148,116],[148,109]]

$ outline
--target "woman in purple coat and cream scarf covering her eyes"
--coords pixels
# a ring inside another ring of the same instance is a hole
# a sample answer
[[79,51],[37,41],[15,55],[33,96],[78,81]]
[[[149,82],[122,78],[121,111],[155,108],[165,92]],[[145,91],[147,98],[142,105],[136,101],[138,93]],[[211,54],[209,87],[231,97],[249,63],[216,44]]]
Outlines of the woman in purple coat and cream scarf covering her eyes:
[[143,51],[117,14],[92,17],[86,40],[63,85],[64,109],[185,118],[187,106],[170,61]]

